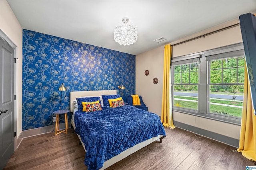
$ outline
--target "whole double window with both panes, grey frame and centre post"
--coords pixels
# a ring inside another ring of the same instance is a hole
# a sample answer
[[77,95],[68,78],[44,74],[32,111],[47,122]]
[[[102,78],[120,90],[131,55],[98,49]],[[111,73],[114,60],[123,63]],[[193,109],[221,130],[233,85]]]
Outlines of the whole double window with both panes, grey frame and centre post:
[[242,43],[173,58],[173,110],[240,124],[244,63]]

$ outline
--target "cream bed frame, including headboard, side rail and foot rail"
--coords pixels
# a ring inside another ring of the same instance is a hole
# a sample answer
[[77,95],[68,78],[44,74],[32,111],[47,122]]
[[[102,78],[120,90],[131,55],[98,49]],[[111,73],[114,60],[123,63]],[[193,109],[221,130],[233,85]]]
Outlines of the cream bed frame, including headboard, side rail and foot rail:
[[[70,92],[70,112],[74,111],[74,103],[73,101],[76,100],[76,98],[82,97],[82,96],[100,96],[100,95],[110,95],[110,94],[116,94],[116,90],[97,90],[97,91],[78,91],[78,92]],[[74,129],[76,129],[75,123],[73,118],[71,119],[71,124],[74,127]],[[84,150],[85,146],[84,143],[82,142],[80,135],[78,135],[78,138],[80,139],[80,142],[82,143]],[[120,154],[112,157],[111,159],[107,160],[106,162],[104,162],[103,167],[100,168],[100,170],[104,170],[106,168],[108,168],[109,166],[115,164],[116,162],[126,158],[127,156],[129,156],[130,154],[133,154],[134,152],[146,147],[147,145],[149,145],[150,143],[153,143],[156,140],[159,140],[160,143],[162,142],[162,138],[163,135],[158,135],[157,137],[153,137],[151,139],[148,139],[144,142],[138,143],[137,145],[124,150],[123,152],[121,152]]]

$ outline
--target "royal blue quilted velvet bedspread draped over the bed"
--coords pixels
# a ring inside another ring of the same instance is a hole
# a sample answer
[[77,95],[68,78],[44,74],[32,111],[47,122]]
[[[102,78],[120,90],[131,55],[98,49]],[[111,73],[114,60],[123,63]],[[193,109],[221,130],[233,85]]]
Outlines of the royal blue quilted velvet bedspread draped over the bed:
[[166,136],[158,115],[128,105],[76,111],[75,125],[87,151],[84,164],[88,170],[102,168],[106,160],[142,141]]

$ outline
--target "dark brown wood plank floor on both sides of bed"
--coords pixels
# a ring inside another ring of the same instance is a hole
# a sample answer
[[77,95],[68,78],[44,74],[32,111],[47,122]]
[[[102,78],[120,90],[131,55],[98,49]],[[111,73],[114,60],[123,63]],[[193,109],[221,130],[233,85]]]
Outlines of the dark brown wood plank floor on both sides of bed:
[[[165,128],[167,137],[154,142],[108,170],[245,170],[255,166],[234,152],[236,148],[196,136],[182,129]],[[74,129],[23,139],[4,170],[83,170],[85,151]]]

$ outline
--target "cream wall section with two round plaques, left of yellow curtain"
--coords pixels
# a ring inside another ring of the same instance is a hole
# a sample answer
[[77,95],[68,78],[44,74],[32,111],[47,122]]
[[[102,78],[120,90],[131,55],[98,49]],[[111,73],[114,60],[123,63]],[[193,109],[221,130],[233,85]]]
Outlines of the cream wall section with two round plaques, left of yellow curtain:
[[[164,47],[136,55],[136,94],[141,95],[148,111],[161,115]],[[149,70],[148,76],[144,74]],[[153,83],[153,78],[158,83]]]

